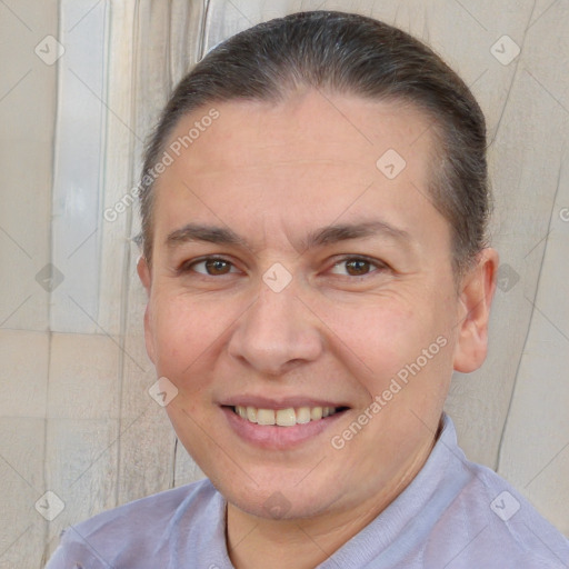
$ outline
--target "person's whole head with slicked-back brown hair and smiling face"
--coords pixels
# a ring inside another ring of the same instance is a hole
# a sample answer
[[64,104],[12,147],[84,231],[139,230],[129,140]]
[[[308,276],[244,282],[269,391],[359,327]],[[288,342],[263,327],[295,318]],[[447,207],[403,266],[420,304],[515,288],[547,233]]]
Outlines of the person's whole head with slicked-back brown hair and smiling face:
[[[292,518],[388,500],[452,370],[486,356],[497,256],[469,89],[390,26],[292,14],[182,79],[143,168],[147,348],[182,443],[257,516],[276,492]],[[242,407],[338,412],[259,427]]]

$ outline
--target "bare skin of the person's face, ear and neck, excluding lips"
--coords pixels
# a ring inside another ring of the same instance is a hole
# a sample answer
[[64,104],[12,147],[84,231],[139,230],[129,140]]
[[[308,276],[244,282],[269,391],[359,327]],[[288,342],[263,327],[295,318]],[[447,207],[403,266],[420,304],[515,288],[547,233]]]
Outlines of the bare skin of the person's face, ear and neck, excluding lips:
[[[307,90],[278,104],[216,108],[219,119],[157,181],[152,262],[138,266],[147,349],[179,390],[167,407],[179,439],[228,501],[233,565],[308,569],[425,463],[452,370],[473,371],[486,357],[498,256],[481,251],[457,286],[449,223],[427,198],[429,121],[413,107]],[[183,118],[171,140],[208,110]],[[392,180],[376,167],[388,149],[407,161]],[[303,247],[320,228],[371,220],[407,238]],[[190,222],[230,228],[248,244],[167,243]],[[203,256],[229,262],[208,274],[192,264]],[[373,262],[349,262],[358,256]],[[276,262],[292,276],[280,292],[262,279]],[[439,337],[446,346],[335,449],[330,438]],[[296,448],[260,449],[219,407],[242,393],[326,395],[350,409]],[[287,503],[280,519],[264,507],[276,492]]]

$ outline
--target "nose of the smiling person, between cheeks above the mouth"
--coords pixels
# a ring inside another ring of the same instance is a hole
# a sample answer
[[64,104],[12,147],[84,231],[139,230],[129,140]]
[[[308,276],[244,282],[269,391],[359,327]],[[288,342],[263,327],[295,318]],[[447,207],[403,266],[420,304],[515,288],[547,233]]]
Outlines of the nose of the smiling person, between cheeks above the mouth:
[[229,341],[229,355],[258,373],[280,376],[322,352],[318,318],[292,287],[274,292],[261,283]]

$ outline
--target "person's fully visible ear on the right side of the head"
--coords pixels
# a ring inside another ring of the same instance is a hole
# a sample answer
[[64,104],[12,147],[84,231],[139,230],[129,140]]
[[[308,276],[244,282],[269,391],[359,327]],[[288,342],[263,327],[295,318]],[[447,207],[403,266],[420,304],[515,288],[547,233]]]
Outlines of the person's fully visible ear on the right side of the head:
[[459,289],[458,339],[455,370],[470,373],[485,361],[488,351],[488,321],[496,291],[498,252],[483,249],[477,264],[461,280]]

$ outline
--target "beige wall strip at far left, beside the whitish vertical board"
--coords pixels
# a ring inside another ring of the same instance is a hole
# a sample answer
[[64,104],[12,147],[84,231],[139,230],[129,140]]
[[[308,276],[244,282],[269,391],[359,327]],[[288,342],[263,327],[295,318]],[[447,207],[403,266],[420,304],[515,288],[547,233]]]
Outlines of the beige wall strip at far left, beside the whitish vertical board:
[[56,68],[36,54],[57,36],[56,1],[0,4],[0,567],[40,567],[50,298],[34,280],[50,260]]

